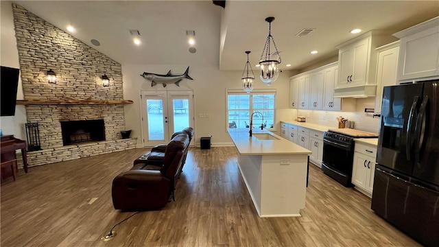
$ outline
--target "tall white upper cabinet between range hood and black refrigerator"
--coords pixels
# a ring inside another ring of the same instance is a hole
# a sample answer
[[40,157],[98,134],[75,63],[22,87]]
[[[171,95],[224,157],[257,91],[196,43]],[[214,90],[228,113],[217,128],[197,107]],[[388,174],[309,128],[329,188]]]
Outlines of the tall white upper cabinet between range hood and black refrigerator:
[[377,97],[375,97],[375,114],[381,113],[384,86],[397,84],[399,41],[377,48]]

